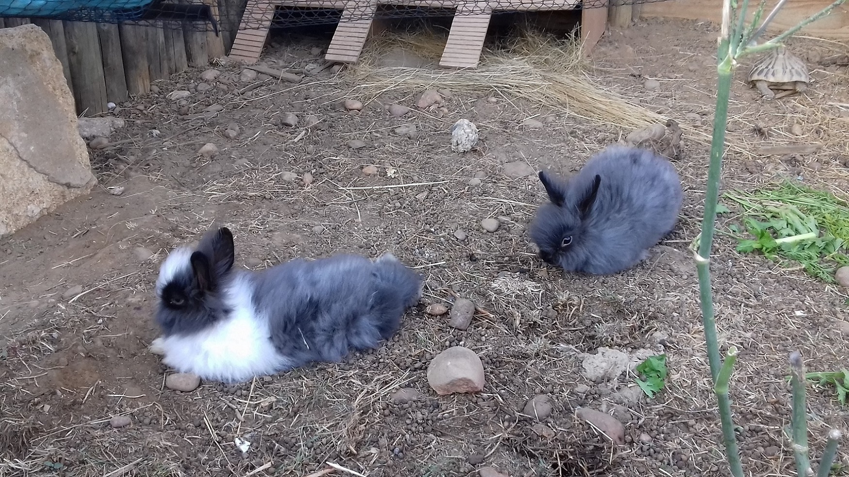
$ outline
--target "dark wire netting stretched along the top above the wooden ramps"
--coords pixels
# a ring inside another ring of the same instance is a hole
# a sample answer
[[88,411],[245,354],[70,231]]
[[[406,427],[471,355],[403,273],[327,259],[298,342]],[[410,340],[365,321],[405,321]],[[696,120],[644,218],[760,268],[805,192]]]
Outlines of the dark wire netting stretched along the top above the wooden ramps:
[[[249,10],[249,0],[0,0],[0,23],[26,20],[69,20],[98,23],[132,22],[163,28],[214,31],[226,28],[331,25],[346,21],[506,14],[515,11],[581,10],[610,4],[655,3],[666,0],[269,0],[276,8]],[[250,2],[252,3],[252,2]],[[3,26],[0,24],[0,26]]]

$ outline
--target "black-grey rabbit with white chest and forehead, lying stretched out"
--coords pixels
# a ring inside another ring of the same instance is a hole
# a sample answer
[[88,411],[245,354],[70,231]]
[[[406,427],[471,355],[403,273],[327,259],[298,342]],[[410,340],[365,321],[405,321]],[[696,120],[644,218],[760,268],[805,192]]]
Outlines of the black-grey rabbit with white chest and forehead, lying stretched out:
[[178,248],[156,280],[150,350],[181,373],[225,383],[339,362],[378,347],[421,297],[422,278],[392,255],[296,259],[261,272],[233,269],[233,233]]

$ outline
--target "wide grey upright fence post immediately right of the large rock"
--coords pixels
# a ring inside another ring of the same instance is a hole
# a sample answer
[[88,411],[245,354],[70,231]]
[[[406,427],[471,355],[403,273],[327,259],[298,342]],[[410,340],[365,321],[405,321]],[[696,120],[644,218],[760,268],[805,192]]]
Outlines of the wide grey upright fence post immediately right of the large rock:
[[70,81],[77,114],[96,115],[107,110],[104,62],[100,54],[98,28],[93,23],[65,21]]

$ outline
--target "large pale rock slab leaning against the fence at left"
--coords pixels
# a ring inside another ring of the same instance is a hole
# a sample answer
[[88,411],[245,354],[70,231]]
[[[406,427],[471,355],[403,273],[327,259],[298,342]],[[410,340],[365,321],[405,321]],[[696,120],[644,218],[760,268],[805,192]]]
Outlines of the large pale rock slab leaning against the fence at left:
[[0,30],[0,235],[35,222],[97,183],[74,98],[37,25]]

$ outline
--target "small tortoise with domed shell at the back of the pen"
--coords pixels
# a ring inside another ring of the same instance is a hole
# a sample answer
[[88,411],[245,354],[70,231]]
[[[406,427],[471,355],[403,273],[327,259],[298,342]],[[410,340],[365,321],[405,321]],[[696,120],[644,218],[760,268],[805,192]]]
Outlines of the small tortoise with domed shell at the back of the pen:
[[[767,53],[751,67],[749,83],[765,99],[784,98],[807,89],[810,80],[807,66],[799,57],[780,46]],[[779,94],[773,89],[783,90]]]

